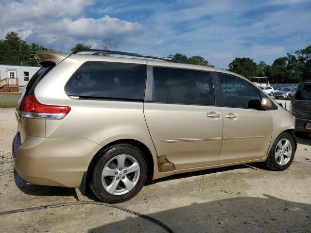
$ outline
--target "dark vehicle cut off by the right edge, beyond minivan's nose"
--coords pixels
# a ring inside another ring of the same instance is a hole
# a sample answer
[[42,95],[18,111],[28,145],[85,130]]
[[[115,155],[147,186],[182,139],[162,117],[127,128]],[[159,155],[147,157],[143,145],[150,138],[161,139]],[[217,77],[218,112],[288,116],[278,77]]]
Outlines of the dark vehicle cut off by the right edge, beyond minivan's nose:
[[294,133],[299,137],[308,137],[311,133],[311,83],[298,85],[290,111],[296,117]]

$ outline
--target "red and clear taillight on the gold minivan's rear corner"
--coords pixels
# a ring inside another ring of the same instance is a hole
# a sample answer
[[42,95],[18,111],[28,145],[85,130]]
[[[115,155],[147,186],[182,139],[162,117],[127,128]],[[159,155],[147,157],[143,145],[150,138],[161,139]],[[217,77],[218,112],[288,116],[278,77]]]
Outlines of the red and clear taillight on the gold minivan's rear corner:
[[63,119],[69,112],[68,106],[46,105],[39,103],[35,95],[25,96],[19,105],[19,115],[35,119]]

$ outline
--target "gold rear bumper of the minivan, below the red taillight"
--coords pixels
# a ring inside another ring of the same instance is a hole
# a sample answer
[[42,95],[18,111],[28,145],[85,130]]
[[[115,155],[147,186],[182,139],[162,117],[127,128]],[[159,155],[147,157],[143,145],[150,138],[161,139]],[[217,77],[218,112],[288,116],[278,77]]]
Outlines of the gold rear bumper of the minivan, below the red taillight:
[[12,155],[18,174],[27,182],[79,187],[93,156],[102,147],[84,138],[26,136],[13,139]]

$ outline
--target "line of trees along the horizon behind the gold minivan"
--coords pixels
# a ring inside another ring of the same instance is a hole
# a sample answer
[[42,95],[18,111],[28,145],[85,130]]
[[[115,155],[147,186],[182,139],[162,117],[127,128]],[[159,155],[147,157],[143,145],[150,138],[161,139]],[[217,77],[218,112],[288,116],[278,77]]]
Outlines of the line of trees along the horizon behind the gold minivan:
[[[71,49],[76,52],[82,49],[90,49],[91,46],[78,43]],[[103,49],[112,50],[118,48],[118,43],[110,38],[103,40]],[[31,45],[22,40],[17,33],[7,33],[5,39],[0,40],[0,64],[37,66],[34,55],[39,52],[61,52],[48,49],[36,43]],[[202,56],[187,57],[184,54],[171,54],[169,57],[185,61],[194,65],[214,67]],[[311,79],[311,45],[305,49],[289,52],[285,57],[277,58],[272,65],[263,61],[257,64],[248,57],[236,57],[228,66],[228,70],[244,77],[268,77],[270,83],[299,83]]]

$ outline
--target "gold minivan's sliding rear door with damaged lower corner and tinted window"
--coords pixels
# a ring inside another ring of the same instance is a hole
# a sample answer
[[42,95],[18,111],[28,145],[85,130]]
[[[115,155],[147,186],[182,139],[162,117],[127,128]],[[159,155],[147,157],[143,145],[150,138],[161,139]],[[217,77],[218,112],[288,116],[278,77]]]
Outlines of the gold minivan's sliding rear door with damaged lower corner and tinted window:
[[159,170],[217,165],[223,134],[209,72],[153,67],[144,114]]

